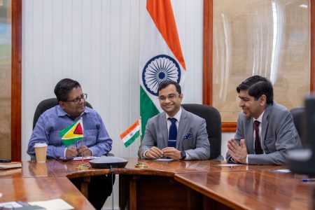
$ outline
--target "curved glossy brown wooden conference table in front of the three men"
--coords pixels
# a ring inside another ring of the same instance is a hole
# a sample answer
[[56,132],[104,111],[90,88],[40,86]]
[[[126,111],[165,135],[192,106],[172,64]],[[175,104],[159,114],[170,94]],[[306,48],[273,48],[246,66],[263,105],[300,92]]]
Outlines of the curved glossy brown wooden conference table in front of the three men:
[[[148,169],[136,169],[127,158],[119,174],[120,209],[315,209],[315,183],[305,176],[281,174],[283,166],[239,165],[225,162],[146,160]],[[87,201],[90,176],[109,169],[78,170],[78,162],[22,162],[22,169],[0,171],[0,202],[62,198],[75,209],[94,209]],[[89,163],[87,162],[87,165]],[[69,179],[81,179],[81,193]]]

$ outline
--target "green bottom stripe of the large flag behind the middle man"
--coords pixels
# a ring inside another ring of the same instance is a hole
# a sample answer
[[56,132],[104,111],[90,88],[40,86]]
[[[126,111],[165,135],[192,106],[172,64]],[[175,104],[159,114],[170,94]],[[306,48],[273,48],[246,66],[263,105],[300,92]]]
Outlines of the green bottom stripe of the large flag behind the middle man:
[[140,116],[141,116],[141,131],[142,138],[144,138],[144,132],[146,131],[146,123],[148,119],[156,116],[160,111],[156,108],[151,98],[148,97],[146,91],[140,86]]

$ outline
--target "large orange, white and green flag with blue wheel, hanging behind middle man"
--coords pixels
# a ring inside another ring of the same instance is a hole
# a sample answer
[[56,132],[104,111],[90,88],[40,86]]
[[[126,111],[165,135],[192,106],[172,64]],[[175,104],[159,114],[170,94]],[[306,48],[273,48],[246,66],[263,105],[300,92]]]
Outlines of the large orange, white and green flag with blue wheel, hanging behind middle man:
[[170,0],[147,0],[144,15],[144,43],[140,55],[141,130],[149,118],[162,111],[158,85],[174,80],[183,87],[186,66]]

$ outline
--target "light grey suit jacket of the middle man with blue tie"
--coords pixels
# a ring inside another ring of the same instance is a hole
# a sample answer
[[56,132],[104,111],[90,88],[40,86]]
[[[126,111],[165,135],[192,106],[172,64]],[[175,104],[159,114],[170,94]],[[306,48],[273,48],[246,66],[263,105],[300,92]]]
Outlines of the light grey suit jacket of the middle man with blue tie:
[[[167,147],[167,120],[165,113],[160,113],[148,120],[146,132],[142,141],[142,150],[139,148],[138,156],[141,156],[151,147]],[[176,149],[188,153],[190,160],[207,160],[210,157],[210,144],[206,129],[206,121],[203,118],[182,110],[179,130],[176,139]]]

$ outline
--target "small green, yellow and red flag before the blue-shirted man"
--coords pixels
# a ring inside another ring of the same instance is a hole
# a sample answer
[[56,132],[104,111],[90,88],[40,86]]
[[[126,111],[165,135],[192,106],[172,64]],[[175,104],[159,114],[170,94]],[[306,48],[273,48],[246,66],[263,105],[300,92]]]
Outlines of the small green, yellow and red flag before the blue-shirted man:
[[69,125],[64,130],[59,131],[62,143],[64,146],[69,146],[83,139],[83,120],[82,118],[78,122]]

